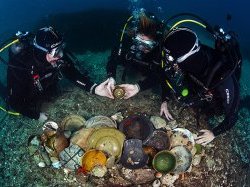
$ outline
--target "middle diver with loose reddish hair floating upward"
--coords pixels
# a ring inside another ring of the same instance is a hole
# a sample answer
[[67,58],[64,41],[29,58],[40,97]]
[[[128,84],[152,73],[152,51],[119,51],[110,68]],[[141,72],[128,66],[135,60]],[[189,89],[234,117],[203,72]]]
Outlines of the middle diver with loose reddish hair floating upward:
[[[128,24],[131,26],[127,28]],[[131,16],[123,28],[120,38],[120,46],[111,51],[106,70],[108,77],[113,80],[108,88],[114,89],[116,69],[118,65],[124,66],[122,81],[125,81],[129,70],[135,70],[146,77],[137,84],[122,84],[125,90],[124,99],[136,95],[139,90],[146,90],[154,85],[160,71],[159,44],[163,35],[163,23],[154,15],[146,13],[144,9]],[[124,38],[123,38],[124,37]]]

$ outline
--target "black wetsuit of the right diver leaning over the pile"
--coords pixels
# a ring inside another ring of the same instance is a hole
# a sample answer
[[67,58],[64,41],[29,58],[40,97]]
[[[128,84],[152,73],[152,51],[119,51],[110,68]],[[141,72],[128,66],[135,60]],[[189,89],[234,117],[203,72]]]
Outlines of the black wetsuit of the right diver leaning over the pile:
[[[241,56],[238,59],[241,60]],[[210,79],[213,68],[219,62],[222,62],[222,65],[215,71],[212,79]],[[206,111],[209,110],[209,113],[211,111],[214,112],[216,108],[220,108],[220,112],[222,111],[224,114],[224,120],[212,129],[215,136],[231,129],[238,118],[237,112],[240,93],[239,82],[236,77],[239,76],[236,75],[235,71],[224,77],[223,81],[220,81],[223,71],[227,71],[230,64],[232,63],[229,57],[225,57],[219,51],[203,45],[201,45],[201,50],[198,53],[179,64],[180,69],[184,72],[184,82],[188,85],[187,87],[190,91],[189,96],[183,99],[184,102],[187,102],[187,104],[190,103],[193,106],[203,106],[203,109]],[[166,74],[165,79],[168,80],[168,76]],[[210,80],[209,85],[206,84],[208,79]],[[205,86],[211,89],[206,90],[204,89]],[[167,87],[166,83],[163,87],[163,100],[168,100],[169,97],[173,96],[171,94],[173,92]],[[209,98],[206,100],[204,93],[211,93],[213,95],[212,100],[210,101]]]

